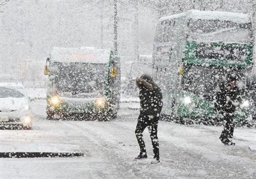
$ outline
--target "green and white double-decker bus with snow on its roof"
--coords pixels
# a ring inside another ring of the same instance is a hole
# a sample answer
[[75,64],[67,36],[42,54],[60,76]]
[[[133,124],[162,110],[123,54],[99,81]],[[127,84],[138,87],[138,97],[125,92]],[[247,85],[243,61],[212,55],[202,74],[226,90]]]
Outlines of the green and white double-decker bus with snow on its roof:
[[252,37],[252,19],[242,13],[189,10],[159,19],[152,63],[163,90],[163,114],[179,121],[216,121],[216,90],[236,74],[243,98],[236,118],[247,118]]

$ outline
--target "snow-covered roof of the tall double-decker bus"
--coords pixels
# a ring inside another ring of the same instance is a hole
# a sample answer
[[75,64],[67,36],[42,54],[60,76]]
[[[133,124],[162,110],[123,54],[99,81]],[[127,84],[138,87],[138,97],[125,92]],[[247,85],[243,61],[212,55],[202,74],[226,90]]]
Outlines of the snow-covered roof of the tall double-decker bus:
[[232,22],[237,22],[239,24],[251,22],[250,15],[244,14],[244,13],[200,11],[200,10],[189,10],[188,12],[162,17],[159,20],[162,21],[162,20],[168,20],[168,19],[175,19],[175,18],[184,17],[184,16],[189,17],[191,19],[228,20]]

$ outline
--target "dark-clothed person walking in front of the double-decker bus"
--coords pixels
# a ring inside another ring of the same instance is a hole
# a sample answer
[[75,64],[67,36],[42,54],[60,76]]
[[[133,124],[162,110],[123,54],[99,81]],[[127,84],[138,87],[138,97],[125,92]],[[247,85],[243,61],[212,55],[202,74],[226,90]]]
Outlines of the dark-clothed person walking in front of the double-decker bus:
[[227,82],[221,84],[216,95],[216,109],[225,120],[224,130],[221,132],[220,140],[225,145],[235,145],[232,143],[234,134],[234,112],[239,101],[239,88],[237,87],[236,75],[230,75]]

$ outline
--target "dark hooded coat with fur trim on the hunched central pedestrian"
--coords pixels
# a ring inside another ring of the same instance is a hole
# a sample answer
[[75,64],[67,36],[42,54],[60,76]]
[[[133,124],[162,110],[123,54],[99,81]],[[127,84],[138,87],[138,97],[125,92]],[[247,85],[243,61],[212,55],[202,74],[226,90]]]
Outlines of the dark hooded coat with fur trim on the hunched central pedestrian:
[[161,89],[148,75],[141,75],[136,79],[136,84],[140,88],[141,113],[159,116],[163,107]]

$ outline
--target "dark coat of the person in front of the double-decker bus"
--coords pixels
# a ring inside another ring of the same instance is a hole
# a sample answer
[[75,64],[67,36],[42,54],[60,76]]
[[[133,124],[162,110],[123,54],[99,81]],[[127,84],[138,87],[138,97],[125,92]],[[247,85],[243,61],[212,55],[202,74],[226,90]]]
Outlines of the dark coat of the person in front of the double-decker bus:
[[240,101],[239,88],[228,82],[221,84],[220,90],[216,94],[215,107],[221,114],[234,113],[236,111],[237,102]]

